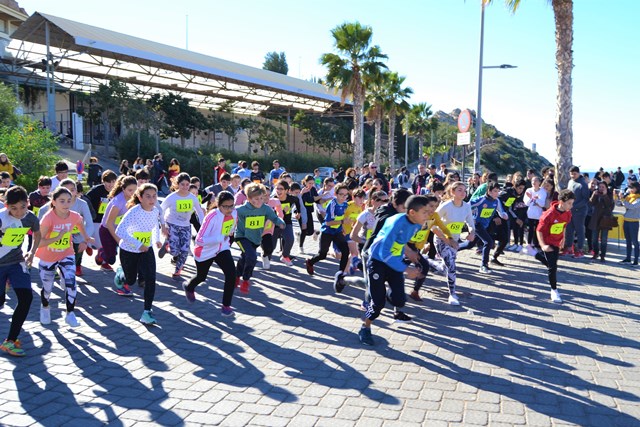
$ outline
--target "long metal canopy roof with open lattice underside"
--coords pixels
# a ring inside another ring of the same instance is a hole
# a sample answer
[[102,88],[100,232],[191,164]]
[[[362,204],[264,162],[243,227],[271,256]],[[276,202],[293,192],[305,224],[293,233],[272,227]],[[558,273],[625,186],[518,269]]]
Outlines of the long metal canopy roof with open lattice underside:
[[44,74],[46,26],[55,81],[70,90],[89,92],[115,78],[143,98],[173,92],[202,109],[225,107],[249,115],[272,107],[327,115],[351,111],[316,83],[39,12],[12,34],[14,57],[2,61],[16,73],[22,67]]

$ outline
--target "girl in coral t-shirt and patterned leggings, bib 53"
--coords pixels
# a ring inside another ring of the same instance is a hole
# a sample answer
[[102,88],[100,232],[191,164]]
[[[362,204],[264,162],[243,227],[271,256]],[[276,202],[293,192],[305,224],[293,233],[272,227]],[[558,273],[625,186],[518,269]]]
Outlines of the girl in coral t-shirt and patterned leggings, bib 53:
[[[43,239],[40,240],[36,256],[40,258],[38,269],[42,281],[40,298],[40,323],[51,323],[51,310],[49,298],[53,289],[53,281],[56,269],[60,270],[60,277],[65,285],[65,301],[67,316],[65,321],[69,326],[76,327],[80,322],[74,313],[76,304],[76,274],[73,247],[71,246],[71,233],[77,229],[84,242],[79,244],[80,252],[87,248],[87,243],[93,243],[93,237],[84,229],[84,221],[80,214],[71,211],[73,195],[65,187],[58,187],[52,194],[51,207],[40,221],[40,232]],[[85,243],[86,242],[86,243]]]

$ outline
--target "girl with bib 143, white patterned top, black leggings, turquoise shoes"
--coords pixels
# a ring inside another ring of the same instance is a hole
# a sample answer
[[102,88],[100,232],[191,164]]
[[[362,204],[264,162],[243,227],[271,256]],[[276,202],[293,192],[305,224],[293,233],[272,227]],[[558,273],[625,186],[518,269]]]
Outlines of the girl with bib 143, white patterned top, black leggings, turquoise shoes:
[[127,203],[127,213],[116,228],[116,235],[120,243],[120,265],[124,272],[125,283],[118,292],[121,295],[131,295],[129,283],[134,283],[141,270],[144,285],[144,311],[140,322],[153,325],[153,298],[156,293],[156,257],[153,245],[158,248],[160,243],[160,211],[157,207],[158,188],[153,184],[142,184],[131,200]]

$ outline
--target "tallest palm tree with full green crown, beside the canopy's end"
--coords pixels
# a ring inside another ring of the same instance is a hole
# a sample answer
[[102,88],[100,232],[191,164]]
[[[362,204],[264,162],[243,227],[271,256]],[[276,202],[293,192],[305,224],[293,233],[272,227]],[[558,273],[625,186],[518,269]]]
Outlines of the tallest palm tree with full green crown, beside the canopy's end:
[[362,124],[364,116],[365,81],[380,69],[387,68],[379,46],[371,46],[373,30],[359,22],[345,22],[331,30],[336,53],[325,53],[320,63],[327,67],[326,82],[330,88],[340,89],[341,102],[353,99],[354,165],[364,161]]

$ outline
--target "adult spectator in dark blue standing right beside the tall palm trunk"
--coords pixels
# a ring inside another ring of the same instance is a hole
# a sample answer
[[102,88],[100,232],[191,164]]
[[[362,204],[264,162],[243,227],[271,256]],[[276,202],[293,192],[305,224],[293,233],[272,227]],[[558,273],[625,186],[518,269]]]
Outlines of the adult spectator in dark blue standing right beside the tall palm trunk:
[[[571,222],[567,224],[565,231],[562,254],[569,255],[573,252],[574,258],[582,258],[584,256],[585,220],[591,191],[589,191],[589,184],[586,179],[580,174],[580,168],[578,166],[572,166],[571,169],[569,169],[569,175],[571,176],[571,180],[569,180],[567,184],[567,189],[571,190],[576,198],[573,202],[573,208],[571,209]],[[573,245],[574,234],[576,236],[576,246],[572,250],[571,246]]]

